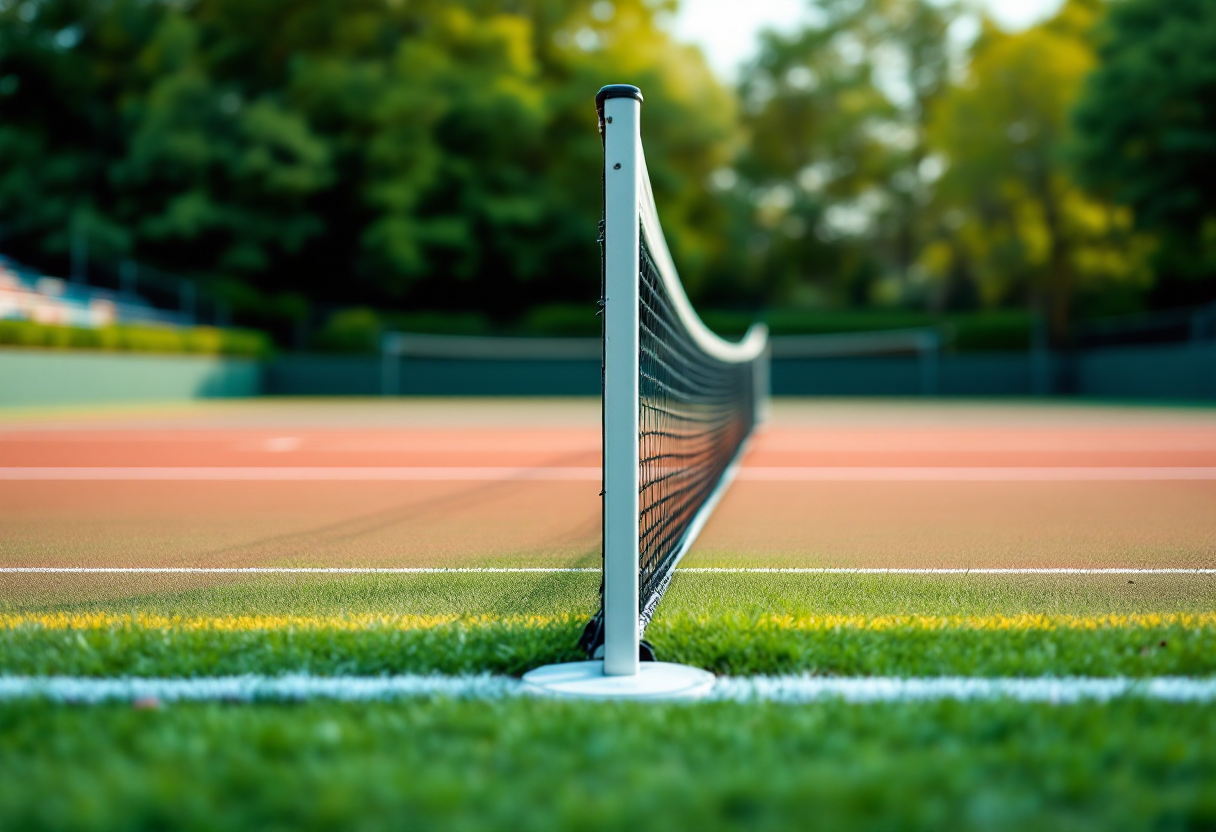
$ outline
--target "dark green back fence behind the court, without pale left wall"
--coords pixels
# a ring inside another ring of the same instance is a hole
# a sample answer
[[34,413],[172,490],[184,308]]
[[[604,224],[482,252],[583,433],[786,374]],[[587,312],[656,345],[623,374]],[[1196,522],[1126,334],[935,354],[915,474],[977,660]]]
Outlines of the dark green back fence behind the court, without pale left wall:
[[[772,339],[775,395],[1087,395],[1216,399],[1216,343],[1053,353],[947,353],[948,332]],[[597,395],[595,338],[394,333],[379,358],[292,355],[266,392],[309,395]]]

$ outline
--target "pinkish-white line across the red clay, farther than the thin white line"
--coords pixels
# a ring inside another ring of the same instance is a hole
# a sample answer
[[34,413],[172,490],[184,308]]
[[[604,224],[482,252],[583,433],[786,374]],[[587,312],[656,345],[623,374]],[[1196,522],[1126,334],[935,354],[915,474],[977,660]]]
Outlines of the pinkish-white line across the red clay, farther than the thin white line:
[[[0,467],[13,482],[599,482],[596,467]],[[743,467],[741,482],[1088,483],[1216,480],[1216,466]]]

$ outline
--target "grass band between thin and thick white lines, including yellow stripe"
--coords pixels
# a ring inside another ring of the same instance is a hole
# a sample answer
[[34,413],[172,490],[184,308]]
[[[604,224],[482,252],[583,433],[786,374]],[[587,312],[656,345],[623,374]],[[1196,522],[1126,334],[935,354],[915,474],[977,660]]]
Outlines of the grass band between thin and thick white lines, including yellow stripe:
[[[496,673],[580,658],[595,574],[343,575],[6,605],[0,673]],[[681,574],[647,637],[719,674],[1216,673],[1204,578]]]

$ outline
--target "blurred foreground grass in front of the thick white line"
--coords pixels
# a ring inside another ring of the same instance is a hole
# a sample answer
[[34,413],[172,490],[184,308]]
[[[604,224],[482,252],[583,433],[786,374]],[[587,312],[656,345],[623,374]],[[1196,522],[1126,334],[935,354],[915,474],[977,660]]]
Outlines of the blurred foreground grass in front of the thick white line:
[[[1200,830],[1210,708],[0,705],[13,830]],[[50,799],[54,796],[54,799]]]

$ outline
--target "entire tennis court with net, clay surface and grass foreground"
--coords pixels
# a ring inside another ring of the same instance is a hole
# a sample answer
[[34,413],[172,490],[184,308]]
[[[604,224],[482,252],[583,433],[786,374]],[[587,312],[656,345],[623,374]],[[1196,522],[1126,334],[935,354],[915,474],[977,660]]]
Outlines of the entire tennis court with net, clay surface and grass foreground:
[[1210,825],[1216,412],[770,401],[596,101],[602,399],[0,416],[0,816]]

